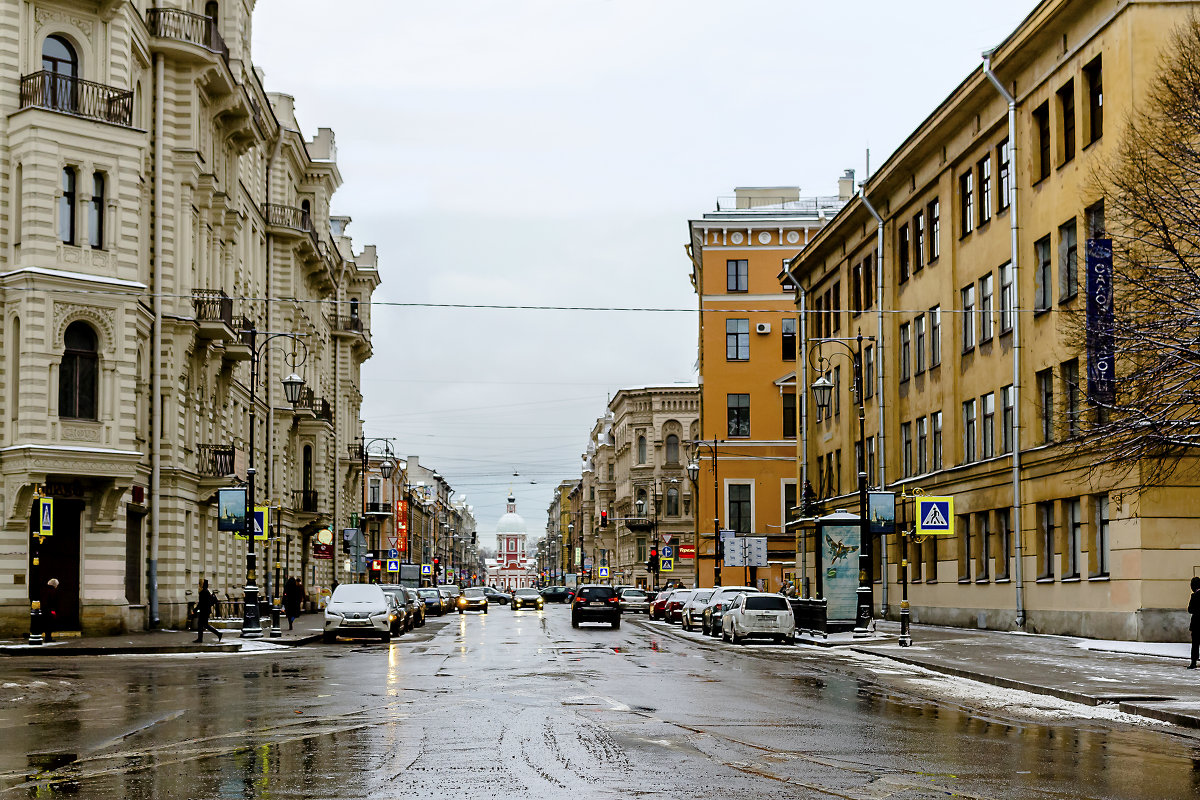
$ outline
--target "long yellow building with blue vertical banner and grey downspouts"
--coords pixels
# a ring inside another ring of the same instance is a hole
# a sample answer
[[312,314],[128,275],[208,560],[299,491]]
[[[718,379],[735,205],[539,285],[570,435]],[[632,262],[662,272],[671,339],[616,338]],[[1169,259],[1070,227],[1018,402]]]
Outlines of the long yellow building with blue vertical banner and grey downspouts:
[[[1195,503],[1068,458],[1086,450],[1070,420],[1087,413],[1087,363],[1062,323],[1104,230],[1088,178],[1196,5],[1039,4],[787,267],[802,336],[877,337],[863,359],[870,482],[954,497],[956,535],[911,554],[918,621],[1184,634]],[[826,511],[857,505],[847,368],[841,413],[802,421]],[[875,594],[893,618],[899,541]]]

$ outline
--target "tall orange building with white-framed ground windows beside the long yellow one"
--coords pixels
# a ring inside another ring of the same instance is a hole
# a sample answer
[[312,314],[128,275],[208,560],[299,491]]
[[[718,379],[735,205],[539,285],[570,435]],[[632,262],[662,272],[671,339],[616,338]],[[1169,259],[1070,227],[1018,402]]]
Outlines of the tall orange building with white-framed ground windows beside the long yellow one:
[[[761,579],[778,589],[794,567],[794,540],[782,525],[797,491],[798,319],[792,288],[780,289],[778,276],[841,209],[853,184],[847,172],[838,197],[811,198],[794,186],[743,187],[688,223],[700,299],[700,437],[689,452],[700,467],[700,585]],[[839,450],[838,457],[847,456]],[[768,536],[768,569],[721,573],[719,530]]]

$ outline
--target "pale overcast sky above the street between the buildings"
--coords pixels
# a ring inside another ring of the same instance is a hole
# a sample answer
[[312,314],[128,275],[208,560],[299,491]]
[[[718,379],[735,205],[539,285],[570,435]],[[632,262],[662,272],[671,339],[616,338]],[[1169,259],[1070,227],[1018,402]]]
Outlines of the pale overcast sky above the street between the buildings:
[[[258,0],[254,61],[337,137],[379,247],[371,437],[534,536],[608,397],[695,383],[688,219],[734,186],[834,194],[878,166],[1033,0]],[[517,473],[514,476],[514,473]]]

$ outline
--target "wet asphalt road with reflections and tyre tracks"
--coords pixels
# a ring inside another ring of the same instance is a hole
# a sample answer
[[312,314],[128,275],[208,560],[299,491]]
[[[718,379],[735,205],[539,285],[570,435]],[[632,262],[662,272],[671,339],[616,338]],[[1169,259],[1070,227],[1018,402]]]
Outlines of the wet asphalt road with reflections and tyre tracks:
[[562,606],[391,645],[8,660],[0,799],[1200,796],[1200,739],[964,686],[642,619],[572,630]]

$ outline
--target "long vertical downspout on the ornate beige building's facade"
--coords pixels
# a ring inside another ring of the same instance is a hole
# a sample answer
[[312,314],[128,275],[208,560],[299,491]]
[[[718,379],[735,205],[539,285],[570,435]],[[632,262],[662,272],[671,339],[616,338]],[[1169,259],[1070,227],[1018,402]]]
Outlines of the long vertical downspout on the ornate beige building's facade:
[[[146,593],[150,627],[158,625],[158,539],[162,487],[162,126],[166,65],[162,54],[154,56],[154,329],[150,335],[150,559],[146,565]],[[191,535],[191,531],[185,531]]]

